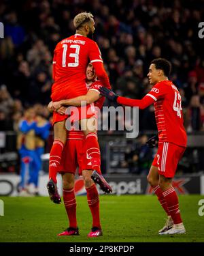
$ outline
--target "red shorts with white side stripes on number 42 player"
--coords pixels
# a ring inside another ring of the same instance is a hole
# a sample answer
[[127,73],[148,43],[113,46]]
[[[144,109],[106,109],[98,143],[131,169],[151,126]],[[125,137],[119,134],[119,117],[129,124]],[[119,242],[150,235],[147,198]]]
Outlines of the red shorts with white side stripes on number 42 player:
[[158,173],[165,177],[174,177],[177,164],[182,158],[186,147],[171,142],[159,142],[158,151],[152,165],[158,167]]

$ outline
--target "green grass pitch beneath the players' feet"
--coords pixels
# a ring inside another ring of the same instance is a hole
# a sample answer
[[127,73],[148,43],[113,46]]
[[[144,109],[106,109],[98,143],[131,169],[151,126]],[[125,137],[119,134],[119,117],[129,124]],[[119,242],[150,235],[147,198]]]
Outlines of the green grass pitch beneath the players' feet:
[[165,214],[156,196],[102,195],[100,197],[103,236],[87,238],[92,220],[86,196],[77,197],[80,236],[56,235],[67,228],[63,203],[48,197],[1,197],[4,216],[0,216],[0,242],[204,242],[204,216],[199,216],[201,195],[181,195],[180,210],[186,234],[158,236]]

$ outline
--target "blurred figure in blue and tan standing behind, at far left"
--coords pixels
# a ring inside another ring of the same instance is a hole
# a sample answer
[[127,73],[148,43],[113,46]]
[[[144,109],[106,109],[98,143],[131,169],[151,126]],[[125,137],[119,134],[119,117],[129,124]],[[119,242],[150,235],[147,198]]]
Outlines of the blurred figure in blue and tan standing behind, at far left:
[[21,177],[18,189],[21,196],[39,195],[38,177],[41,170],[41,155],[44,154],[46,139],[50,134],[50,123],[39,109],[41,109],[40,106],[35,106],[24,111],[24,117],[18,124],[17,142]]

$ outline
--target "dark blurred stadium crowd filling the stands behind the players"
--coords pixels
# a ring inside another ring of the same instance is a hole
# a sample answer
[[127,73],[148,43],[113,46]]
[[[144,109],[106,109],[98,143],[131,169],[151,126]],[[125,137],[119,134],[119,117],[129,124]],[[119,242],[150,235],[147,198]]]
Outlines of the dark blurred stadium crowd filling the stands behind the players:
[[[95,16],[94,38],[114,91],[142,98],[150,90],[150,61],[165,57],[173,64],[169,79],[182,95],[187,132],[204,130],[201,5],[203,1],[192,0],[2,0],[0,129],[16,130],[27,106],[40,109],[49,119],[54,48],[74,33],[73,16],[87,11]],[[140,111],[139,118],[140,131],[156,130],[153,106]]]

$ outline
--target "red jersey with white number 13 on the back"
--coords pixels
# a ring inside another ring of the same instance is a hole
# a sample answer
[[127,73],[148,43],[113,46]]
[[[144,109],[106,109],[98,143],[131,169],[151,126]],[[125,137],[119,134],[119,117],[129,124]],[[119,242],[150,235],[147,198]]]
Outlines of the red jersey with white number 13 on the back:
[[99,46],[93,40],[75,34],[59,42],[54,50],[52,93],[65,88],[66,98],[86,94],[88,61],[103,63]]

